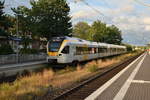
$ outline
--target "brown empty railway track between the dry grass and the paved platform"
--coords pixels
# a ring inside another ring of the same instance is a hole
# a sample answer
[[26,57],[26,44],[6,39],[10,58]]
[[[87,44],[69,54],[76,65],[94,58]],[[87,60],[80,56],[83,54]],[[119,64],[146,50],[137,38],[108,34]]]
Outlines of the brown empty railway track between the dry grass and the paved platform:
[[[65,91],[64,93],[57,96],[53,100],[84,100],[87,96],[89,96],[91,93],[97,90],[100,86],[102,86],[114,75],[116,75],[118,72],[124,69],[127,65],[129,65],[133,60],[135,60],[141,54],[134,56],[103,73],[95,75],[94,77],[77,85],[76,87]],[[48,97],[46,97],[46,100],[47,99]]]

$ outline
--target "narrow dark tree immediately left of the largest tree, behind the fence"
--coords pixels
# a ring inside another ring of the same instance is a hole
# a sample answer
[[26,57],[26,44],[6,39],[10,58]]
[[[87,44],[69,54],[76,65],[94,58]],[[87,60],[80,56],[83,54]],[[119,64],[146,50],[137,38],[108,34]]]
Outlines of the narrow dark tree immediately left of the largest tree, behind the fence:
[[[17,8],[12,8],[12,11],[15,13],[16,20],[15,20],[15,26],[18,26],[18,32],[19,36],[22,38],[22,44],[23,48],[26,50],[27,46],[31,42],[31,16],[30,12],[31,10],[25,6],[19,6]],[[17,25],[18,24],[18,25]],[[17,29],[15,30],[17,33]],[[15,35],[16,35],[15,33]]]

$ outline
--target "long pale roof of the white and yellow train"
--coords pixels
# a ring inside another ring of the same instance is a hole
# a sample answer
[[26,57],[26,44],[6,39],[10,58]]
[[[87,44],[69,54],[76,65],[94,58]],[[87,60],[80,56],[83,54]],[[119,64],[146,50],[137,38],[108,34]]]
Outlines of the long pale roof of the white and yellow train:
[[86,44],[86,45],[91,45],[91,46],[106,46],[106,47],[111,47],[111,48],[126,48],[125,46],[120,46],[120,45],[114,45],[114,44],[107,44],[107,43],[100,43],[100,42],[92,42],[92,41],[87,41],[87,40],[83,40],[77,37],[61,37],[64,38],[64,40],[68,40],[69,44]]

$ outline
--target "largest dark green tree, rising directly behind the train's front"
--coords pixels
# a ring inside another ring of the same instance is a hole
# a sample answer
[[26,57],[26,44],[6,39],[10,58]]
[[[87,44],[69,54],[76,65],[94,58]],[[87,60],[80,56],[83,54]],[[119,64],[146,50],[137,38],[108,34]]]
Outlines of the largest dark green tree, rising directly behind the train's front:
[[71,33],[70,8],[66,0],[32,1],[31,6],[33,34],[50,39]]

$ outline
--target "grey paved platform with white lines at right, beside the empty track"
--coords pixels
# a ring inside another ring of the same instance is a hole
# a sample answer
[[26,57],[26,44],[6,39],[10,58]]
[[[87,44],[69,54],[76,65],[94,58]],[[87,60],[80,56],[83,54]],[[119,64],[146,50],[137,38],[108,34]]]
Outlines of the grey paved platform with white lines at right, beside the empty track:
[[85,100],[150,100],[150,53],[142,54]]

